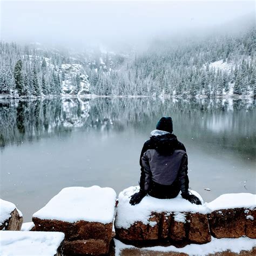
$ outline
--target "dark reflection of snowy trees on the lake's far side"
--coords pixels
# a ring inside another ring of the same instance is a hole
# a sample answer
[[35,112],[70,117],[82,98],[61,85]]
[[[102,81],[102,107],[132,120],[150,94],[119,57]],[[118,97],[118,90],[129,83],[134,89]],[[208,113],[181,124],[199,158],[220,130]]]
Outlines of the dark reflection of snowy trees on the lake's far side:
[[[70,136],[76,129],[137,132],[172,116],[174,132],[199,144],[211,142],[255,156],[252,99],[52,98],[0,101],[0,145]],[[249,158],[250,158],[249,157]]]

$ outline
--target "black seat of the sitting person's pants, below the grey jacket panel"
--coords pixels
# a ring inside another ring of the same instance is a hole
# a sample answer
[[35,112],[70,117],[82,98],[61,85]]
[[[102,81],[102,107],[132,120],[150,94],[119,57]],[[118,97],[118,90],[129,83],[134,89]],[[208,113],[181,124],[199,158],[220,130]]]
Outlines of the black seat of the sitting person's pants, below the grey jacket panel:
[[180,192],[180,185],[178,180],[175,180],[172,185],[161,185],[151,181],[149,192],[151,197],[159,199],[171,199],[177,197]]

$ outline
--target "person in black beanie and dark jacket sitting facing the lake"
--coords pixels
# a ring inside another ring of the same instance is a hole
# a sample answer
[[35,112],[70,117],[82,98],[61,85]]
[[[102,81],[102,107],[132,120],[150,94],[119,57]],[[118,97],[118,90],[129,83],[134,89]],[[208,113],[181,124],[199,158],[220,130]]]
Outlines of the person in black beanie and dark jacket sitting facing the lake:
[[172,133],[172,118],[162,117],[144,143],[140,154],[140,190],[130,199],[139,204],[149,194],[159,199],[181,196],[193,204],[201,204],[198,197],[188,191],[187,153],[185,146]]

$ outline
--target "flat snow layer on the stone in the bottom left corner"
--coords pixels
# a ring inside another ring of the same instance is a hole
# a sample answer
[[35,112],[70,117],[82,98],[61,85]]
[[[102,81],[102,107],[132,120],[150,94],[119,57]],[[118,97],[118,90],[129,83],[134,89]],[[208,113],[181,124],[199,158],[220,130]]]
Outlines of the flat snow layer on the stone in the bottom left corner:
[[56,255],[61,232],[0,231],[0,255]]

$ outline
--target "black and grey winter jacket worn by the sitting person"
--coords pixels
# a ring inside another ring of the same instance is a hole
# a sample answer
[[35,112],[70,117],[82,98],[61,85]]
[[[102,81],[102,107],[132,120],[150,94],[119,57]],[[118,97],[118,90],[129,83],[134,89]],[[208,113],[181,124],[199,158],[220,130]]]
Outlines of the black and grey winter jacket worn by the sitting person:
[[187,154],[184,145],[169,132],[154,130],[151,135],[140,154],[140,189],[148,193],[153,187],[154,192],[158,190],[160,194],[174,191],[173,197],[180,190],[187,193]]

